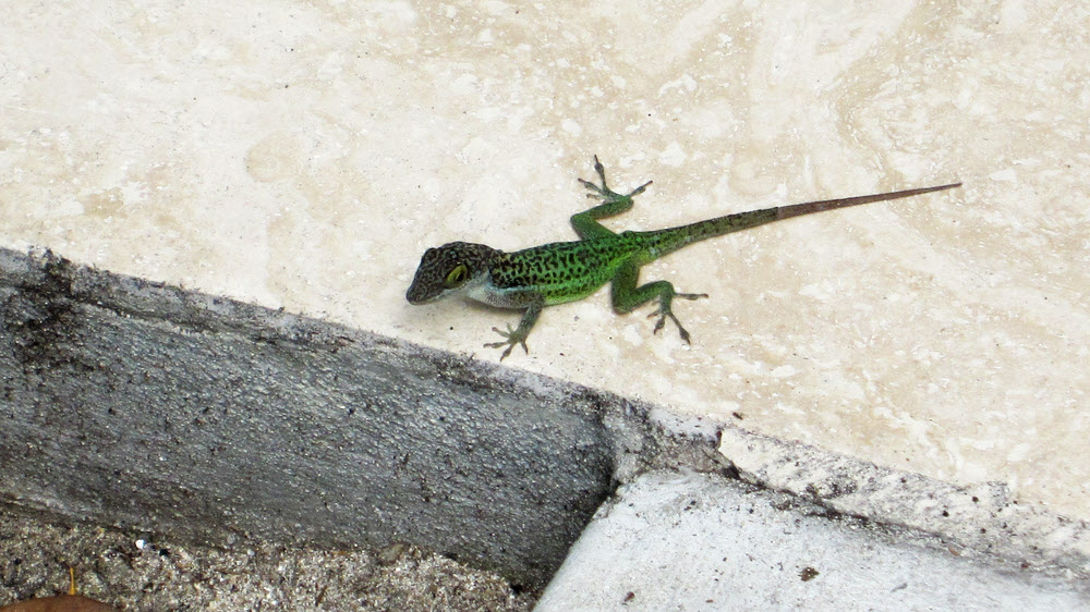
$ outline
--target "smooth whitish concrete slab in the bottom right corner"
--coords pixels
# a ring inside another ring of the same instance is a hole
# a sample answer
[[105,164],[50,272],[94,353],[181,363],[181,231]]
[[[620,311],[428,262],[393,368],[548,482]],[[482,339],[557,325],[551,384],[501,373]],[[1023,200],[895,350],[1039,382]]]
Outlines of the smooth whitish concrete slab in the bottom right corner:
[[618,490],[535,608],[1086,609],[1086,582],[692,473],[650,473]]

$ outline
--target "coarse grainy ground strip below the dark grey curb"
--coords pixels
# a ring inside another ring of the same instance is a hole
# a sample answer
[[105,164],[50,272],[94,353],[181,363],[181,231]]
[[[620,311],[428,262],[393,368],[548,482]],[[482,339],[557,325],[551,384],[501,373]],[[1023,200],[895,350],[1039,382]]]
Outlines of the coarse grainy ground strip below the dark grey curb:
[[194,546],[0,506],[0,607],[66,592],[128,612],[529,610],[505,578],[419,548]]

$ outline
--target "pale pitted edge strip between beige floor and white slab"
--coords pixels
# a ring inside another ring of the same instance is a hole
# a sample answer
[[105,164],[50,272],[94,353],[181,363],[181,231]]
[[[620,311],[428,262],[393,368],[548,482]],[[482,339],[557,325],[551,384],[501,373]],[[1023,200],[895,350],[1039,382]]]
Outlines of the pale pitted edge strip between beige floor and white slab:
[[719,453],[748,482],[831,511],[936,536],[1001,564],[1090,578],[1090,524],[1019,502],[1002,482],[958,486],[728,428]]

